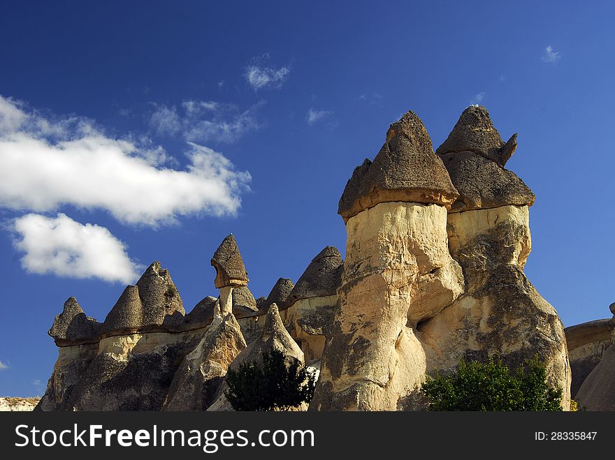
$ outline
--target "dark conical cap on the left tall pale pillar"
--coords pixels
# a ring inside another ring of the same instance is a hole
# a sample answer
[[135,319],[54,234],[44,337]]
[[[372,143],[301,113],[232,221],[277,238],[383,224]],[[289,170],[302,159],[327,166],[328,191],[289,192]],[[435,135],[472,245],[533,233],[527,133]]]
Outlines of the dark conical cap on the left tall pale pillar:
[[382,202],[437,203],[450,207],[458,193],[442,160],[433,153],[423,122],[407,112],[386,133],[386,142],[371,162],[355,168],[346,184],[338,214],[348,221]]

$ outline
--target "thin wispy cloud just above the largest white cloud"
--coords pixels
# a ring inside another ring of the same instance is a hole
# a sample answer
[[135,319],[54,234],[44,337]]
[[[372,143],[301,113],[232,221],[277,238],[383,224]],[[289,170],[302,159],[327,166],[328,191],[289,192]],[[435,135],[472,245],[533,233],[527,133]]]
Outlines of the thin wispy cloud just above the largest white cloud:
[[156,104],[150,126],[157,135],[180,135],[190,142],[236,142],[261,128],[256,112],[261,101],[247,110],[215,101],[184,101],[180,107]]

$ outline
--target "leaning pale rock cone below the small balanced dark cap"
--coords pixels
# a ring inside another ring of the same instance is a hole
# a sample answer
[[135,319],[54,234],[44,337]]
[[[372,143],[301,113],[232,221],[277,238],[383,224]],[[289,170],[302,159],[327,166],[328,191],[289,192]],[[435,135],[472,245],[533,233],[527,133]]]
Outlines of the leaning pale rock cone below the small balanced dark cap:
[[219,396],[226,371],[244,348],[245,340],[233,313],[224,318],[215,316],[203,339],[175,371],[162,409],[207,409]]

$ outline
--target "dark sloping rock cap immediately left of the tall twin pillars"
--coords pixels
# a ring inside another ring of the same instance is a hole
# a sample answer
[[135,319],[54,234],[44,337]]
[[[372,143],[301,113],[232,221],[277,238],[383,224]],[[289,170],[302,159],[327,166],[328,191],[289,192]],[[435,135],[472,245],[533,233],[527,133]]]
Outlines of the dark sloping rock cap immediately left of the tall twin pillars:
[[342,283],[344,261],[335,246],[326,246],[312,259],[291,291],[287,306],[301,299],[337,294]]

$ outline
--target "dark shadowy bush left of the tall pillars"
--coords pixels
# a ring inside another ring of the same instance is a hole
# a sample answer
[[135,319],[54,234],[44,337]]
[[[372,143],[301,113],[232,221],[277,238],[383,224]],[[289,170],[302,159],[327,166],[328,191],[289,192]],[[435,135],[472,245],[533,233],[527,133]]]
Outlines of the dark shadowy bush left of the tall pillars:
[[235,410],[289,410],[310,403],[316,376],[296,359],[290,364],[284,354],[273,350],[263,353],[263,364],[240,364],[226,374],[229,389],[226,399]]

